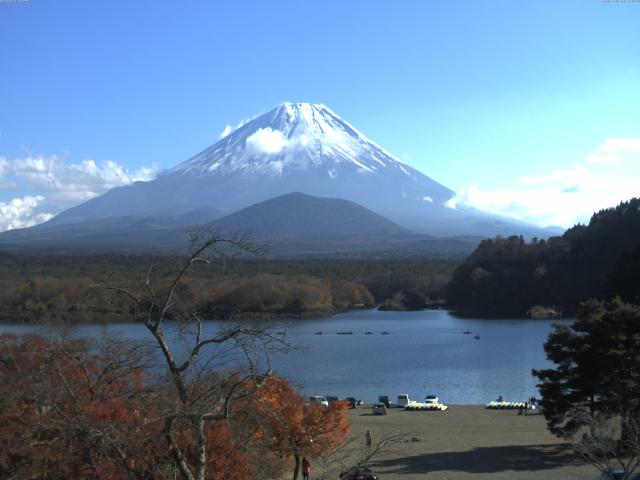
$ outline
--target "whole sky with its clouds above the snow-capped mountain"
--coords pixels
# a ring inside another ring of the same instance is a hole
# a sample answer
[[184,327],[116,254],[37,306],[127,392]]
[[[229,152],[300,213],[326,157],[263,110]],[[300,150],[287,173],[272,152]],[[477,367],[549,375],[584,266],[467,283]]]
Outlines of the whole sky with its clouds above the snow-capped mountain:
[[459,193],[568,226],[640,194],[640,3],[0,2],[0,230],[321,102]]

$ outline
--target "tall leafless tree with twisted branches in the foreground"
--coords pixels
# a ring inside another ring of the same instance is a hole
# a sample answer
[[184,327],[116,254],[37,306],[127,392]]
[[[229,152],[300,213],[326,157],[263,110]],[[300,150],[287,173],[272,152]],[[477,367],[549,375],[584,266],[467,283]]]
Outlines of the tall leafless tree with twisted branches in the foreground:
[[195,232],[192,245],[191,255],[164,288],[157,288],[150,267],[141,289],[111,290],[132,302],[136,317],[161,352],[175,393],[163,405],[162,435],[178,474],[183,480],[204,480],[206,425],[228,419],[236,400],[254,395],[264,385],[271,375],[269,352],[282,345],[282,337],[259,324],[235,323],[207,331],[190,299],[181,298],[185,277],[197,264],[257,249],[245,238],[223,237],[216,231]]

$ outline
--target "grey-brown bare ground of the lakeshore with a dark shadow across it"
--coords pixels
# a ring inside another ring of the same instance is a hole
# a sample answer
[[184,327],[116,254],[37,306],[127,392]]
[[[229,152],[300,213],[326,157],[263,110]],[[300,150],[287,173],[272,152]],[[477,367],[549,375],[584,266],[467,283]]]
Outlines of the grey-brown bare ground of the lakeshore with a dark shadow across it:
[[[599,474],[547,431],[542,415],[482,406],[450,406],[445,412],[391,408],[386,416],[370,412],[366,407],[350,411],[356,442],[364,445],[367,429],[374,444],[386,434],[408,437],[369,463],[382,480],[587,480]],[[326,478],[338,474],[332,471]]]

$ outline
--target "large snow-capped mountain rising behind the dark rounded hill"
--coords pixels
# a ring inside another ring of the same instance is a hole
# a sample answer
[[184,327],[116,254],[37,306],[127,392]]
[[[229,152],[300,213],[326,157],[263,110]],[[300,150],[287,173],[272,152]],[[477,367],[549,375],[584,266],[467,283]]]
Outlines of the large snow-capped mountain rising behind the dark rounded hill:
[[348,200],[432,236],[550,233],[469,207],[449,208],[452,190],[400,161],[325,105],[284,103],[153,181],[114,188],[45,224],[2,235],[0,242],[36,232],[59,236],[72,225],[74,231],[140,219],[165,226],[178,219],[174,223],[182,225],[198,214],[197,223],[207,223],[292,192]]

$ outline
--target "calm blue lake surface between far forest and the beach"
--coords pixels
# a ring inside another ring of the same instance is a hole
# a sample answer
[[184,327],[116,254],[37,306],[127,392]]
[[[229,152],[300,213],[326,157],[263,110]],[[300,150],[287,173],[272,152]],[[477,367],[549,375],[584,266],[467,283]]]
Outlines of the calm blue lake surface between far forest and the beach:
[[[571,320],[555,321],[570,323]],[[285,322],[286,340],[301,350],[277,355],[274,370],[305,394],[354,396],[372,402],[378,395],[408,393],[421,400],[436,394],[450,404],[482,404],[502,395],[525,400],[537,395],[532,368],[549,365],[542,347],[550,320],[456,318],[445,310],[354,311],[330,318]],[[216,329],[221,322],[210,322]],[[43,332],[44,327],[2,325],[0,332]],[[480,335],[464,335],[469,330]],[[147,338],[139,324],[81,325],[78,336],[99,338],[106,331]],[[352,331],[352,335],[337,332]],[[365,332],[374,332],[371,335]],[[388,331],[389,335],[380,332]],[[316,332],[323,332],[322,335]]]

